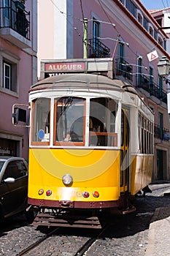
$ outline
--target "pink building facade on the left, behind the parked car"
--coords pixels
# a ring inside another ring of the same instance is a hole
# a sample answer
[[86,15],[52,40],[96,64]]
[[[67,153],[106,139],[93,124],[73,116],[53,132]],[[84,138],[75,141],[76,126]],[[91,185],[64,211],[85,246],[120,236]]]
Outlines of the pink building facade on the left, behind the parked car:
[[[12,105],[28,104],[37,80],[37,3],[0,3],[0,155],[28,159],[28,117],[12,124]],[[28,113],[28,108],[26,108]],[[28,115],[27,115],[28,116]]]

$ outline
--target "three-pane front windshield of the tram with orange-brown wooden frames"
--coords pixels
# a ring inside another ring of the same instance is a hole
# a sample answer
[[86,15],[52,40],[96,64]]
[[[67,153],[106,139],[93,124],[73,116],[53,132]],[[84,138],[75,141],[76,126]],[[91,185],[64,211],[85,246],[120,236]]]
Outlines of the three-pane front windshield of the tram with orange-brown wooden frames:
[[60,97],[54,99],[54,108],[51,102],[45,97],[32,102],[32,145],[117,146],[114,99]]

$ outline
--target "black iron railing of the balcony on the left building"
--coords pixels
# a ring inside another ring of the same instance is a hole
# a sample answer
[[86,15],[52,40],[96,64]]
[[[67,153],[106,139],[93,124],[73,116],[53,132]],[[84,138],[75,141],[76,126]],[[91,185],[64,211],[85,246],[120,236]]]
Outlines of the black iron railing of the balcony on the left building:
[[10,7],[0,7],[0,29],[9,28],[30,39],[30,12],[20,1],[10,1]]

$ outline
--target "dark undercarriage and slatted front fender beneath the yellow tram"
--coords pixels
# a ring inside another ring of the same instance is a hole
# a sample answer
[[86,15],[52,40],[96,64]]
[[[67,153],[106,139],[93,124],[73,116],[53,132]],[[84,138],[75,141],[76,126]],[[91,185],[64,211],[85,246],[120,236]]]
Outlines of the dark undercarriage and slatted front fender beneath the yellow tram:
[[[101,207],[98,208],[95,208],[94,202],[90,202],[90,208],[74,208],[77,202],[60,201],[56,203],[59,203],[60,208],[29,206],[28,211],[36,212],[32,225],[101,228],[110,217],[136,211],[127,195],[123,195],[117,201],[99,202]],[[112,207],[110,207],[111,205]]]

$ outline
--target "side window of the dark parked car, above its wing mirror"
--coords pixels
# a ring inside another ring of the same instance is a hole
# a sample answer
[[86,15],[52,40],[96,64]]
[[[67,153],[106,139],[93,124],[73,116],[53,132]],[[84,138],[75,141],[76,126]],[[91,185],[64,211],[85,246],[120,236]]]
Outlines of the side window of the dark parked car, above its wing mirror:
[[20,178],[26,175],[26,166],[24,165],[23,161],[12,161],[9,162],[7,168],[5,170],[3,179],[5,178]]

